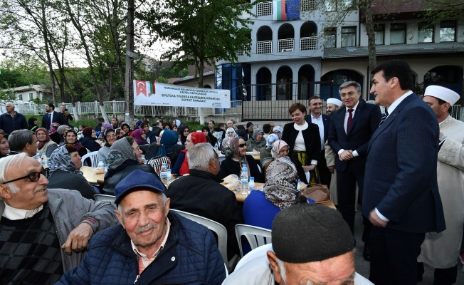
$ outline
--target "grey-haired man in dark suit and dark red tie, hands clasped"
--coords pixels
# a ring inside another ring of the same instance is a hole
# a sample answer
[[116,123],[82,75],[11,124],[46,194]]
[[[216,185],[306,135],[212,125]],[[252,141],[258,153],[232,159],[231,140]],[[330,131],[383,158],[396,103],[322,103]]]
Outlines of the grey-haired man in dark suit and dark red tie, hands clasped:
[[[379,106],[359,100],[361,86],[355,81],[343,83],[339,87],[339,93],[345,106],[332,115],[329,145],[336,154],[338,209],[354,232],[356,182],[359,197],[362,197],[367,144],[379,125],[381,113]],[[362,240],[363,255],[367,261],[370,260],[370,228],[369,220],[365,219]]]

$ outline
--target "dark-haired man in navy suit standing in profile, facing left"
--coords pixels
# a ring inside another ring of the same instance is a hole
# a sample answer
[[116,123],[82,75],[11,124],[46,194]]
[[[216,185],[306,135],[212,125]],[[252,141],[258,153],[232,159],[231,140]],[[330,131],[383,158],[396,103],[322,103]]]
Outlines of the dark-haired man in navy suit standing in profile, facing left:
[[445,229],[437,185],[438,121],[411,91],[413,75],[404,61],[371,71],[371,93],[386,115],[367,150],[362,212],[371,230],[370,280],[416,284],[416,260],[426,232]]

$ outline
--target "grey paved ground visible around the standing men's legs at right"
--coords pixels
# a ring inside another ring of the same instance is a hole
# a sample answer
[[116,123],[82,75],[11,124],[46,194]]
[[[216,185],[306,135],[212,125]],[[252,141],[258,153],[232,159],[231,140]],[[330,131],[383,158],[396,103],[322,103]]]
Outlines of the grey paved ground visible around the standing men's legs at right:
[[[364,243],[362,242],[362,216],[361,210],[359,209],[356,214],[356,221],[354,226],[354,236],[356,237],[356,248],[354,249],[354,261],[356,264],[356,271],[362,276],[369,278],[369,262],[365,261],[362,257],[364,250]],[[458,257],[456,257],[458,259]],[[463,264],[458,262],[458,279],[455,284],[464,284],[464,272]],[[423,281],[418,283],[419,285],[432,285],[433,284],[433,269],[425,264],[425,273],[423,274]]]

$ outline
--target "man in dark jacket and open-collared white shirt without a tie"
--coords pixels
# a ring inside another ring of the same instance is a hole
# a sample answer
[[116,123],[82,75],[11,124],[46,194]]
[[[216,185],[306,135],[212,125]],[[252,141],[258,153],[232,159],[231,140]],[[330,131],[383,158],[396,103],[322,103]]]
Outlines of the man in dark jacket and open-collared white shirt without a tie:
[[317,157],[317,170],[321,184],[327,185],[330,188],[330,178],[332,174],[327,168],[327,162],[325,161],[325,141],[327,140],[330,127],[330,116],[322,114],[322,100],[318,96],[312,96],[308,105],[310,113],[306,116],[308,124],[313,123],[319,127],[319,134],[321,137],[321,148],[320,155]]

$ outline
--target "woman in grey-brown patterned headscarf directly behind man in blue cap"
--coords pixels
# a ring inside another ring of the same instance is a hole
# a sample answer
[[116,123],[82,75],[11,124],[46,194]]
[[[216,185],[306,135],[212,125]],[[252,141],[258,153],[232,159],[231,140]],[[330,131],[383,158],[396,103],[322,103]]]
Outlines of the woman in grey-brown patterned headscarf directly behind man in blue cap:
[[142,151],[133,137],[117,140],[110,147],[108,155],[108,171],[105,174],[103,191],[105,194],[115,195],[115,186],[134,170],[153,173],[153,167],[142,164]]

